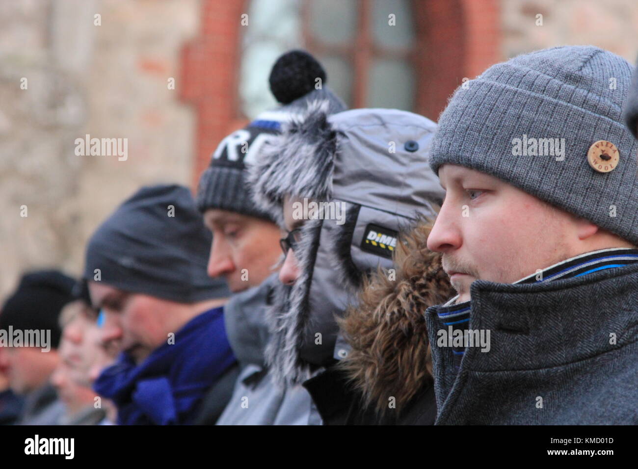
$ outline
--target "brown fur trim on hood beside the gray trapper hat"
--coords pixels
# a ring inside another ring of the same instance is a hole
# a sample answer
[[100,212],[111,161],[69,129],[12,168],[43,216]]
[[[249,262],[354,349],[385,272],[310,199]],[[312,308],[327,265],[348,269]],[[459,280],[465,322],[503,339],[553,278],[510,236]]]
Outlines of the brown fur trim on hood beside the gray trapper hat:
[[339,320],[352,346],[339,362],[364,405],[374,406],[379,415],[396,399],[396,410],[432,380],[432,358],[424,313],[454,295],[441,267],[440,253],[427,249],[432,228],[421,220],[401,236],[394,253],[396,279],[379,269],[364,283],[359,304]]

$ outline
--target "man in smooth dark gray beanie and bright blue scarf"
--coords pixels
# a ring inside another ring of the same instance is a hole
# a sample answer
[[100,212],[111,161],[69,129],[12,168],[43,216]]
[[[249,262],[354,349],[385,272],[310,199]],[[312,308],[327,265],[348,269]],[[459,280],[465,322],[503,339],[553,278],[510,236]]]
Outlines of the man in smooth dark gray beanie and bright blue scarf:
[[237,367],[223,320],[228,287],[206,274],[210,244],[177,185],[140,189],[91,237],[84,276],[103,342],[122,350],[94,389],[114,401],[118,424],[192,423],[205,393]]

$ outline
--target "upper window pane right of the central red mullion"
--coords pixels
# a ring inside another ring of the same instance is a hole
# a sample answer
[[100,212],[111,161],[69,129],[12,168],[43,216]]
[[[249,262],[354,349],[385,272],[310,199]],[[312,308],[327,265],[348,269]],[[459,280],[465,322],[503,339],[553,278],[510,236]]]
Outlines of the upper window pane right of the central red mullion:
[[[375,44],[387,48],[410,48],[414,38],[411,0],[373,0],[372,32]],[[390,26],[389,15],[394,15]]]

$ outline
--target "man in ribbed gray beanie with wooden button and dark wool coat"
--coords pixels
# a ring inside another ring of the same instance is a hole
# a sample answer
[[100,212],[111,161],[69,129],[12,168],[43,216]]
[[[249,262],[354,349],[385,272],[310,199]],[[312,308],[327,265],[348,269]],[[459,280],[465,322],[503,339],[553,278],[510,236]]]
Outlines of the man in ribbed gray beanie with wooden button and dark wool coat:
[[638,423],[631,73],[600,48],[539,50],[441,114],[427,245],[459,295],[426,312],[436,424]]

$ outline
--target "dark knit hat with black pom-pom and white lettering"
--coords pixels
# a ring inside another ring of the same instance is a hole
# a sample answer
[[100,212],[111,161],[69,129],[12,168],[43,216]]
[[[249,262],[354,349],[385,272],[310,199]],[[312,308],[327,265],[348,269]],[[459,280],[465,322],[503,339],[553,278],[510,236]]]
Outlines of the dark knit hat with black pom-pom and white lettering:
[[[316,89],[317,78],[321,88]],[[281,133],[281,124],[300,117],[309,103],[316,100],[330,103],[330,114],[346,106],[325,85],[327,77],[321,64],[302,50],[286,52],[272,66],[269,78],[271,91],[283,106],[262,112],[245,128],[224,138],[211,156],[211,165],[200,177],[197,207],[222,209],[271,220],[254,204],[246,180],[246,165],[260,159],[263,143]]]

